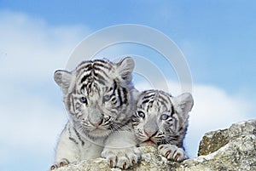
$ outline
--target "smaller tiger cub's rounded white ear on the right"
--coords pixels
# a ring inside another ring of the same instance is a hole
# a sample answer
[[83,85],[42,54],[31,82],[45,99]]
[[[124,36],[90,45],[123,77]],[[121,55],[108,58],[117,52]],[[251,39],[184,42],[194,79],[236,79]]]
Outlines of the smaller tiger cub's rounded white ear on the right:
[[177,97],[173,97],[172,103],[179,114],[183,115],[183,117],[187,117],[189,111],[191,111],[194,105],[194,100],[191,94],[184,93]]

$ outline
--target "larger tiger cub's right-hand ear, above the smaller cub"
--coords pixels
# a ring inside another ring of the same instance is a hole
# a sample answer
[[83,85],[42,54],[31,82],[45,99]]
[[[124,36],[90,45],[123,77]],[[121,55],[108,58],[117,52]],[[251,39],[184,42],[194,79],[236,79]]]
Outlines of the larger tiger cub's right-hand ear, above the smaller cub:
[[125,83],[131,82],[131,72],[134,69],[134,60],[131,57],[125,57],[123,60],[117,63],[117,70],[119,79],[125,81]]

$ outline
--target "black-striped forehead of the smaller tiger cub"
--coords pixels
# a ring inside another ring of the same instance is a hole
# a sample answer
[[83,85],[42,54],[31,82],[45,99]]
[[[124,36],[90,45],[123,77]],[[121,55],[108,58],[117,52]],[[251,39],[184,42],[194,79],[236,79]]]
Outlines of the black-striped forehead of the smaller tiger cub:
[[149,115],[171,114],[173,112],[172,95],[161,90],[146,90],[137,101],[137,111]]

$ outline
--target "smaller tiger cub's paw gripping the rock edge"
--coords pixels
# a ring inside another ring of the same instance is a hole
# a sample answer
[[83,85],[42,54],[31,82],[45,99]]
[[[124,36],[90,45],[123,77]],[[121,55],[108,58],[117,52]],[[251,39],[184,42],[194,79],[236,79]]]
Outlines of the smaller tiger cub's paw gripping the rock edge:
[[159,145],[158,151],[162,156],[169,160],[182,162],[183,160],[188,159],[186,152],[176,145]]

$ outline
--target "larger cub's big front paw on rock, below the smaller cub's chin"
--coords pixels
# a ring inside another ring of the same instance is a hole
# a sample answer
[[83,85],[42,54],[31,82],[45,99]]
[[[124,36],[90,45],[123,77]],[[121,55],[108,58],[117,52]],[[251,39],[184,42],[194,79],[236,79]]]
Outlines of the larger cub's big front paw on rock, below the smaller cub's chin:
[[137,164],[141,158],[141,152],[137,147],[130,147],[125,149],[107,149],[102,151],[102,157],[107,159],[111,168],[130,168]]

